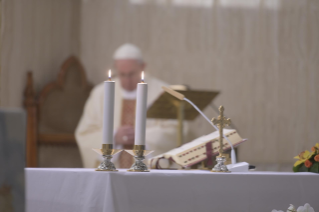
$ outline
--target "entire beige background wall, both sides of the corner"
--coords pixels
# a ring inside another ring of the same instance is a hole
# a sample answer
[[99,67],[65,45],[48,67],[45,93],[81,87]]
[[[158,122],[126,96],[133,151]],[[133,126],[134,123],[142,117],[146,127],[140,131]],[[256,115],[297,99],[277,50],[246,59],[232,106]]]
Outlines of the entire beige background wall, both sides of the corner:
[[[319,2],[194,2],[4,0],[0,106],[21,106],[27,70],[40,89],[71,54],[99,83],[113,51],[132,42],[154,76],[221,91],[215,104],[249,139],[240,160],[291,170],[293,156],[318,142]],[[211,130],[200,118],[193,129]]]

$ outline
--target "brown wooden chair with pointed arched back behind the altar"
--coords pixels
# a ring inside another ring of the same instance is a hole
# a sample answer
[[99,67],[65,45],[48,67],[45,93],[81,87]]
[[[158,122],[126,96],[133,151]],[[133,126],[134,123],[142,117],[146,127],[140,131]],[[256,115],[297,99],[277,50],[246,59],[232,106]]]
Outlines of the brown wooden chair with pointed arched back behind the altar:
[[73,56],[39,94],[28,72],[24,92],[27,167],[82,167],[74,132],[91,89],[83,66]]

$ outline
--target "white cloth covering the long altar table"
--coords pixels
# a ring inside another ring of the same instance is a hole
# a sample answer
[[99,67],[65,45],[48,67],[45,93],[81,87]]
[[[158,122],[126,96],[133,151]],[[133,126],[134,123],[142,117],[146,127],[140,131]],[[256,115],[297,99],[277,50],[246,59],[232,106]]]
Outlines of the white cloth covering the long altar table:
[[270,212],[309,203],[319,211],[314,173],[211,173],[27,168],[27,212]]

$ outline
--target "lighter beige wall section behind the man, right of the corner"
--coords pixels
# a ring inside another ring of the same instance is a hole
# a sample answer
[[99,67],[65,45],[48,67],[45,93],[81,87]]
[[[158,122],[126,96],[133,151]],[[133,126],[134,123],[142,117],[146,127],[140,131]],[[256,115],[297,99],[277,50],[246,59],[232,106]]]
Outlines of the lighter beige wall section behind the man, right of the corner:
[[[132,42],[156,77],[221,91],[215,104],[249,139],[241,160],[291,170],[293,156],[318,142],[318,1],[130,2],[143,1],[83,1],[81,60],[91,81],[101,81],[118,45]],[[198,134],[210,131],[196,123]]]

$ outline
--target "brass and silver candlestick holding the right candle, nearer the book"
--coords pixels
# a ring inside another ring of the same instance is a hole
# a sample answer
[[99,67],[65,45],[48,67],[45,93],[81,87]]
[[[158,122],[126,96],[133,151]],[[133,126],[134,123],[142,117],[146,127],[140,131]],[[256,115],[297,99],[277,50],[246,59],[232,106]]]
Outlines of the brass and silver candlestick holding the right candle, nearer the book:
[[132,155],[135,159],[135,162],[131,168],[127,171],[129,172],[149,172],[147,166],[143,162],[145,156],[151,154],[152,150],[145,150],[145,145],[134,145],[132,150],[125,150],[127,153]]

